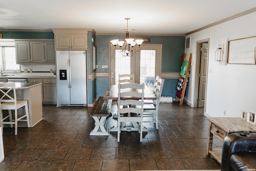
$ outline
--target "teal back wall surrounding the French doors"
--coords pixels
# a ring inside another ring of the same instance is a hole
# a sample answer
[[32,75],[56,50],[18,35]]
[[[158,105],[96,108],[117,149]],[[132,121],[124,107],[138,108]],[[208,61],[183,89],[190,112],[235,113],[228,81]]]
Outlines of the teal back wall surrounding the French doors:
[[[150,43],[144,44],[162,44],[162,72],[180,72],[182,64],[185,36],[132,36],[150,38]],[[97,72],[108,72],[108,69],[102,69],[102,65],[109,65],[108,44],[113,39],[124,39],[124,36],[116,35],[97,35],[96,34],[96,64]],[[163,96],[176,96],[176,85],[178,79],[166,79],[162,91]],[[108,79],[97,78],[96,97],[103,96],[108,87]],[[103,89],[103,90],[102,90]]]

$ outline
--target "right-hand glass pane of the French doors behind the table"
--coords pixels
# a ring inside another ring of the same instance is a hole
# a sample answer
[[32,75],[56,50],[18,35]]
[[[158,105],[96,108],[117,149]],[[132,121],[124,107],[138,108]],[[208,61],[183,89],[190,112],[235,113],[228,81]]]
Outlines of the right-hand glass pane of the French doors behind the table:
[[140,50],[140,84],[154,88],[156,50]]

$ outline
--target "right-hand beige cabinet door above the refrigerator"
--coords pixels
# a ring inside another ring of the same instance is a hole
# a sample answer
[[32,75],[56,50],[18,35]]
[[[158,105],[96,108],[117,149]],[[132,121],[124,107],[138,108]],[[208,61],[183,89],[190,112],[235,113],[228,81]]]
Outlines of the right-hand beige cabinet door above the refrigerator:
[[87,36],[86,35],[71,35],[71,48],[76,50],[86,50]]

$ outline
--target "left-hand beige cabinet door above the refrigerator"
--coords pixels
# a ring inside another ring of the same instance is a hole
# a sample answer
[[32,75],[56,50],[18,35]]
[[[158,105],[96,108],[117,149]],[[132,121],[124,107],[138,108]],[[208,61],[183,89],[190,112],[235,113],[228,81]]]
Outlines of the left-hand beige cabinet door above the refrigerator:
[[55,47],[57,50],[71,49],[71,35],[55,35]]

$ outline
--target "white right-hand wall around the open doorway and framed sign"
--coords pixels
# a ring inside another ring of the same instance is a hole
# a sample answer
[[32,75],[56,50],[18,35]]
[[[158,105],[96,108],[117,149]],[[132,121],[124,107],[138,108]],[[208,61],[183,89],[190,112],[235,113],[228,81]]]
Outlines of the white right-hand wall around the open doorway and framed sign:
[[[214,61],[214,53],[221,39],[234,40],[256,36],[256,12],[218,24],[211,28],[188,35],[191,36],[192,53],[188,103],[194,106],[194,85],[196,70],[196,41],[209,38],[209,58],[205,114],[211,117],[240,117],[241,111],[256,112],[256,65],[227,64]],[[187,55],[188,56],[188,55]],[[226,115],[224,115],[226,110]]]

